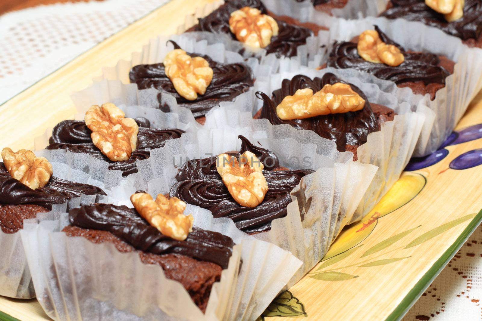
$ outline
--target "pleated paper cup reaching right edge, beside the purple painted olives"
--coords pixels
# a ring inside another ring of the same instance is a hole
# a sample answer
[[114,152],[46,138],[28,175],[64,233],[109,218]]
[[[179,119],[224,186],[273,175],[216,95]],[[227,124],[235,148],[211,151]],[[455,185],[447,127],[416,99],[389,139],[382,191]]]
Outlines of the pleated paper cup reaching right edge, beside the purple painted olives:
[[[374,25],[406,50],[444,55],[455,62],[454,73],[445,78],[445,87],[437,91],[435,100],[431,101],[429,94],[423,97],[415,95],[423,99],[433,114],[424,124],[424,131],[430,128],[427,144],[417,144],[414,156],[433,153],[450,135],[469,103],[482,89],[482,49],[468,48],[460,39],[419,22],[369,17],[362,20],[336,19],[330,28],[327,52],[331,51],[334,41],[349,41],[362,31],[373,29]],[[404,93],[409,95],[410,91]]]

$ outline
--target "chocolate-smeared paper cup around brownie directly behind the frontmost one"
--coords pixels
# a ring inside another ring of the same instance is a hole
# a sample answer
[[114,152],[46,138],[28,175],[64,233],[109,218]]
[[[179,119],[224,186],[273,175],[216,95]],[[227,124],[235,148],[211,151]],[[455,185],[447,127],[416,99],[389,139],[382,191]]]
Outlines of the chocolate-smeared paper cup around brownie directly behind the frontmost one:
[[[186,159],[239,150],[238,135],[273,151],[280,159],[280,166],[316,170],[305,176],[291,192],[287,216],[273,220],[271,230],[254,234],[256,239],[276,244],[304,262],[290,281],[292,285],[321,260],[339,231],[352,221],[376,167],[353,162],[352,154],[337,152],[332,141],[314,139],[315,143],[311,143],[306,140],[307,136],[298,135],[290,126],[272,128],[263,121],[253,122],[251,116],[248,116],[251,123],[235,124],[236,119],[241,120],[238,111],[218,110],[231,119],[225,128],[187,133],[152,151],[150,159],[137,163],[139,173],[133,174],[136,184],[132,189],[146,190],[152,195],[169,193],[177,182],[177,167]],[[247,113],[244,114],[242,116]],[[333,154],[339,162],[326,154]],[[304,162],[307,159],[309,164]],[[194,205],[187,205],[187,208],[211,216],[209,210]]]

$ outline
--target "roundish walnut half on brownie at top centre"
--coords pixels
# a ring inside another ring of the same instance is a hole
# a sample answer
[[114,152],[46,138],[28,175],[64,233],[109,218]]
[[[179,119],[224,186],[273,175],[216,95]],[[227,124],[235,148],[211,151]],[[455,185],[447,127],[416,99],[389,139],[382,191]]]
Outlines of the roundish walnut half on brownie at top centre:
[[278,35],[278,24],[256,8],[244,7],[231,13],[229,29],[236,39],[251,47],[265,48]]

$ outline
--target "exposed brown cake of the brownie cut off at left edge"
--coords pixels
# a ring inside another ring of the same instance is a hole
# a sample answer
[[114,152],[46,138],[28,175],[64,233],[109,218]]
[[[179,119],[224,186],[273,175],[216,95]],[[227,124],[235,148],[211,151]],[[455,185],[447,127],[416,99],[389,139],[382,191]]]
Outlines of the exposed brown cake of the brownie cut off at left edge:
[[49,209],[40,205],[0,204],[0,228],[4,233],[16,233],[24,228],[24,219],[36,218],[37,213],[46,213],[49,211]]

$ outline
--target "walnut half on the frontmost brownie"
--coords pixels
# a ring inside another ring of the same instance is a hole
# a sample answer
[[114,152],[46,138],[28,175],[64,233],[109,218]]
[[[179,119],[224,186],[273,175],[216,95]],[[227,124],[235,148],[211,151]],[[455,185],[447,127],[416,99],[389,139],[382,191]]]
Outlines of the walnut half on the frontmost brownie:
[[168,199],[162,194],[156,200],[147,193],[135,193],[131,196],[135,210],[158,229],[163,235],[174,240],[184,241],[192,232],[192,215],[184,215],[186,203],[177,197]]

